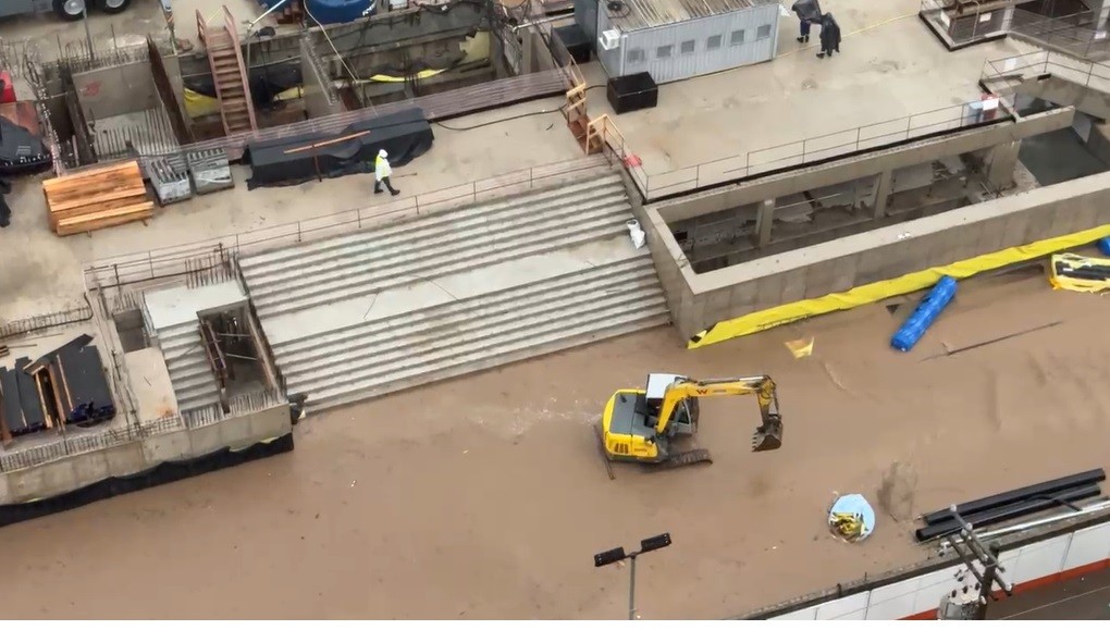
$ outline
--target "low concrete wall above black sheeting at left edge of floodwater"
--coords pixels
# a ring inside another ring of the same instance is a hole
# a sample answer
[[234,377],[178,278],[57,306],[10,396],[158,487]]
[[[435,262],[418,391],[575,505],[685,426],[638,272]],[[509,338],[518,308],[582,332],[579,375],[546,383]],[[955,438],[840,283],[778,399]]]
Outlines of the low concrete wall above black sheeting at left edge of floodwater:
[[194,429],[151,435],[113,448],[0,473],[0,503],[65,493],[110,477],[134,474],[165,461],[193,459],[223,448],[242,449],[292,431],[284,404]]

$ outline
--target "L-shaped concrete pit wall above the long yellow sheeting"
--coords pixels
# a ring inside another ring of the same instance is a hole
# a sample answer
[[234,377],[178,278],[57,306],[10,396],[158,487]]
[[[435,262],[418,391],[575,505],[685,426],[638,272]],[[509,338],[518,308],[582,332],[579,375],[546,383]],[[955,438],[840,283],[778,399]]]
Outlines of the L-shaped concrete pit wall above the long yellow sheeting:
[[672,318],[690,337],[718,321],[775,305],[1108,224],[1110,172],[705,274],[694,273],[657,208],[646,208],[642,221]]

